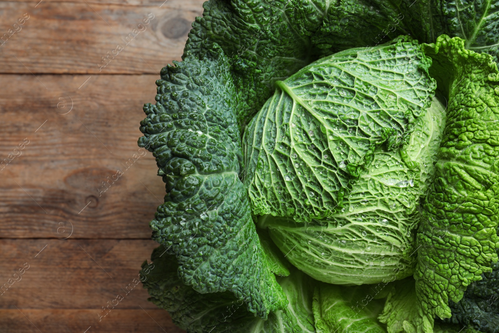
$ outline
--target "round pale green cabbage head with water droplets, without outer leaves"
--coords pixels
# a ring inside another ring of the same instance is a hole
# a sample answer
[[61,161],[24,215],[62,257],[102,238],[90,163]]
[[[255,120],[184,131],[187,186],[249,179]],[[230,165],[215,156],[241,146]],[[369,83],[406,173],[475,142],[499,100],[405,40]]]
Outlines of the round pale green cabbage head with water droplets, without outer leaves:
[[445,117],[428,61],[402,39],[324,57],[278,82],[245,131],[258,226],[312,278],[360,285],[413,274],[417,208]]

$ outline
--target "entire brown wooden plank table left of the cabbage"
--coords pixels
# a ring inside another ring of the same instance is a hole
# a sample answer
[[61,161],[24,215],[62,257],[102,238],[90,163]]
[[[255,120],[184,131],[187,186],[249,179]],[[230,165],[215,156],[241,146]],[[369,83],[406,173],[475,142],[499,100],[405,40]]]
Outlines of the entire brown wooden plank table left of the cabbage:
[[0,1],[0,332],[183,332],[141,284],[100,316],[157,246],[142,105],[203,0],[38,1]]

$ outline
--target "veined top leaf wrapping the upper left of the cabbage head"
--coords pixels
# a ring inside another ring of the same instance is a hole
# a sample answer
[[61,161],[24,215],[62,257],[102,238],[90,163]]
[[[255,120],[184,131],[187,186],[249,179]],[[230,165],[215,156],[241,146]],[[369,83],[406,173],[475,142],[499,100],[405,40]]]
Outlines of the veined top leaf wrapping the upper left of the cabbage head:
[[243,138],[253,214],[331,216],[379,146],[408,142],[436,86],[429,58],[404,40],[321,58],[276,83]]

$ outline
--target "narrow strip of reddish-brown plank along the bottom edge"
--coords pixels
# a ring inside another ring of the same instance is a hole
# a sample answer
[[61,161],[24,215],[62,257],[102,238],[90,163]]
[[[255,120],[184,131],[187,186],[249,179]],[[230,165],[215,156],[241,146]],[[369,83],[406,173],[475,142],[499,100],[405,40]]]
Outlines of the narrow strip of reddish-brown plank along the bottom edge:
[[112,310],[98,321],[95,310],[0,310],[2,332],[184,333],[163,310]]

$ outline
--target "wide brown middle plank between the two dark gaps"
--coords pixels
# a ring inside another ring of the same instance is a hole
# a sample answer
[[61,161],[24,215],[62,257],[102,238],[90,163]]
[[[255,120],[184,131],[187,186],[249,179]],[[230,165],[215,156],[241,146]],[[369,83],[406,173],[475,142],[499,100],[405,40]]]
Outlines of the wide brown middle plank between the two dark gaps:
[[0,75],[1,238],[150,238],[165,185],[137,139],[158,77],[89,76]]

